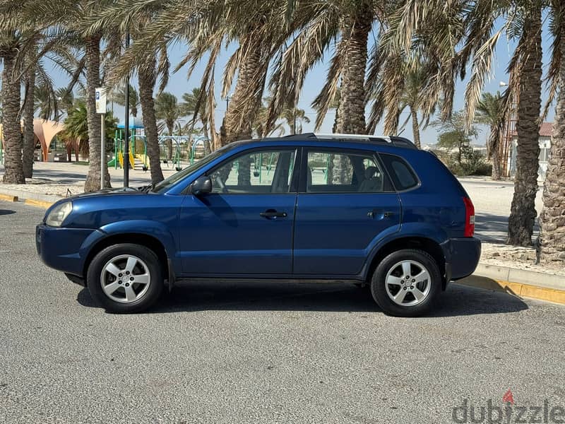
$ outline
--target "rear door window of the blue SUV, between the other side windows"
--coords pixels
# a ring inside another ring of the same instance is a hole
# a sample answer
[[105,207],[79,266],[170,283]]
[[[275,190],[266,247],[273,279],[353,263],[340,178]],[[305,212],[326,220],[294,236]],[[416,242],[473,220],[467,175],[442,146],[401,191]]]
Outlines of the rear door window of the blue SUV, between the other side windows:
[[307,193],[380,193],[391,190],[371,153],[309,151]]

